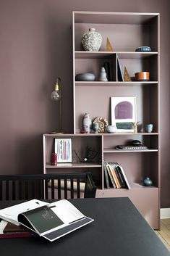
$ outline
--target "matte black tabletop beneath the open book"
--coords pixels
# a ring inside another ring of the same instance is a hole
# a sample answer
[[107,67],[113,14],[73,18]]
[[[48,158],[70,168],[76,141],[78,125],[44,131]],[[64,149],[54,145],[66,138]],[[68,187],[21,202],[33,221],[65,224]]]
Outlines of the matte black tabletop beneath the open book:
[[[168,256],[170,252],[128,198],[71,199],[95,221],[50,242],[0,239],[2,256]],[[15,202],[19,203],[19,202]],[[1,202],[1,208],[14,202]]]

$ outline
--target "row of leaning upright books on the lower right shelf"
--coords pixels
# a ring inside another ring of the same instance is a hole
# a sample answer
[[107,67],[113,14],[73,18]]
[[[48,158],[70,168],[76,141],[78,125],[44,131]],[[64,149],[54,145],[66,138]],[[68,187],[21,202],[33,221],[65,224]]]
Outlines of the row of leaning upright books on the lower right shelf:
[[117,162],[104,162],[104,175],[106,188],[114,187],[114,189],[130,189],[127,176],[121,165]]

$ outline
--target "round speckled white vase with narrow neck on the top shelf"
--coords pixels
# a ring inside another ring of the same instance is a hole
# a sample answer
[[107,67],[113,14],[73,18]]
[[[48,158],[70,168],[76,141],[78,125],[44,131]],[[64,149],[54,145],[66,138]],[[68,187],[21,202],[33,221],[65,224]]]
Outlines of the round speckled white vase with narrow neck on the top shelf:
[[85,51],[98,51],[101,47],[102,36],[95,31],[95,28],[89,28],[89,32],[82,35],[82,46]]

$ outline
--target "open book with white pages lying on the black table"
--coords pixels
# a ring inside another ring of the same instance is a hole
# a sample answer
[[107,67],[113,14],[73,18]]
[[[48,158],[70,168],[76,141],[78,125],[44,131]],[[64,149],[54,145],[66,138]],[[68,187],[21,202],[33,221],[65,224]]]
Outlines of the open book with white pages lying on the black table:
[[65,199],[51,204],[33,199],[0,210],[0,218],[15,225],[22,224],[49,241],[93,221]]

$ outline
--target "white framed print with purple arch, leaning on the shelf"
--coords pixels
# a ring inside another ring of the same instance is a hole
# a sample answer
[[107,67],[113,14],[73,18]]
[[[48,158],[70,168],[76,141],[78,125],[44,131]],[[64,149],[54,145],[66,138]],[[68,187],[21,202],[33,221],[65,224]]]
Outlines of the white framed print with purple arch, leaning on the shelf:
[[136,123],[136,98],[111,97],[111,125],[116,132],[133,133]]

